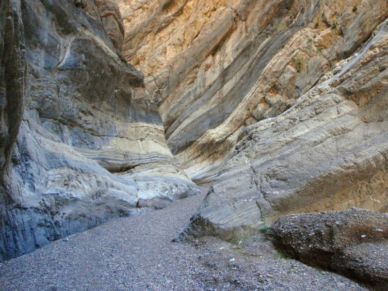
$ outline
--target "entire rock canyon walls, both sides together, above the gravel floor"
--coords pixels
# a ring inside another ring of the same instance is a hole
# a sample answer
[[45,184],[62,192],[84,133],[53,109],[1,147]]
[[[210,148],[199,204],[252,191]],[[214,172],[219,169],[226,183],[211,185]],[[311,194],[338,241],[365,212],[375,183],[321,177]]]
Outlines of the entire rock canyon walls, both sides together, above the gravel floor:
[[177,240],[387,211],[384,0],[5,0],[0,260],[198,193]]

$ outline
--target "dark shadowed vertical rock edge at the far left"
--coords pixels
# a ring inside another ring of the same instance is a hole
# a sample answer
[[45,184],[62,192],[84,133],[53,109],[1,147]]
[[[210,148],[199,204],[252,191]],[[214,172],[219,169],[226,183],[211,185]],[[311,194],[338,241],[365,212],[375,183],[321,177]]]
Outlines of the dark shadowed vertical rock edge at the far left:
[[1,187],[22,119],[26,87],[24,29],[18,1],[4,0],[0,3],[0,64]]

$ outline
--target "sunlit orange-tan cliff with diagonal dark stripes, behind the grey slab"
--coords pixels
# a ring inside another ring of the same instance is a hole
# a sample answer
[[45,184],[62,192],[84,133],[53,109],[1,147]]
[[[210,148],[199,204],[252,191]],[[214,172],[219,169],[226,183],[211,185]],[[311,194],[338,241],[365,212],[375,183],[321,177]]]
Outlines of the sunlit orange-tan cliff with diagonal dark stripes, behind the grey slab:
[[120,0],[125,58],[198,182],[241,130],[289,109],[387,16],[385,0]]

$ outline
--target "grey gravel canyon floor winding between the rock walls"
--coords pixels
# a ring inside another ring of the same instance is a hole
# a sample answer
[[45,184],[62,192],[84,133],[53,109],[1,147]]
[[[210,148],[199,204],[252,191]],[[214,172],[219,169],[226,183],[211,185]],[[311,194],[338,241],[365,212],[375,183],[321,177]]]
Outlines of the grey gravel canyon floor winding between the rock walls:
[[4,261],[0,290],[368,290],[285,258],[262,234],[234,243],[171,242],[208,189]]

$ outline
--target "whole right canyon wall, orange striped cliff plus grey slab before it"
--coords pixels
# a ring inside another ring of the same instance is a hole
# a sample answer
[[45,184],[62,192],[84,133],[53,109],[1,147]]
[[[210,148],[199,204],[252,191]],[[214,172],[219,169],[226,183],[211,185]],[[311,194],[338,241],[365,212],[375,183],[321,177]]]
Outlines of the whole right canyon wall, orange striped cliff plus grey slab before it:
[[213,179],[177,238],[294,212],[387,211],[385,0],[122,0],[124,57],[167,144]]

